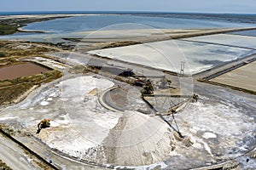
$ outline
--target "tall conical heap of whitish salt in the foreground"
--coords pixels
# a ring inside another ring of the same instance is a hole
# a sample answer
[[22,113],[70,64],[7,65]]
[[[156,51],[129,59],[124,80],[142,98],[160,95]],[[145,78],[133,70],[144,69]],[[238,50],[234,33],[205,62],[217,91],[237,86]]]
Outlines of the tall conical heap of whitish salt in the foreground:
[[107,163],[143,166],[163,161],[175,148],[172,129],[160,117],[125,111],[103,141]]

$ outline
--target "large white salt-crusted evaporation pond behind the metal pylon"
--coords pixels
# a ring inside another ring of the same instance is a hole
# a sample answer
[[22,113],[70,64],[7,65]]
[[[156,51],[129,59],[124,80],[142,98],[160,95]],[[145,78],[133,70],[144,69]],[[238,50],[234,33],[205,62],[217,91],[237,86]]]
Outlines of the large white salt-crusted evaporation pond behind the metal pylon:
[[255,52],[247,48],[169,40],[94,50],[88,53],[177,73],[180,71],[181,62],[184,61],[184,72],[195,74]]

